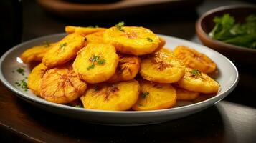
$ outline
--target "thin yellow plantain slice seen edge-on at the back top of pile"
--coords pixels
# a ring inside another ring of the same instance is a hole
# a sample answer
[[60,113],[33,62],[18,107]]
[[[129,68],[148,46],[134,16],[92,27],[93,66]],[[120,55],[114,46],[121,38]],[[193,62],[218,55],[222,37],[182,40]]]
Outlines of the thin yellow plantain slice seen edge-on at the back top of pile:
[[98,31],[105,31],[105,28],[100,28],[100,27],[81,27],[81,26],[65,26],[65,31],[67,34],[72,34],[72,33],[79,33],[82,34],[83,36],[86,36],[88,34],[93,34]]

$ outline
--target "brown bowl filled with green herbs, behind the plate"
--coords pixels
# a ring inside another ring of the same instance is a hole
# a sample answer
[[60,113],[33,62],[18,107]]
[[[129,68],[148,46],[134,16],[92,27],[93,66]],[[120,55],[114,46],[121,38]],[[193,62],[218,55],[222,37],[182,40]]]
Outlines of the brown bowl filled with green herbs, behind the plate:
[[222,6],[196,21],[196,34],[205,46],[234,63],[255,64],[256,6]]

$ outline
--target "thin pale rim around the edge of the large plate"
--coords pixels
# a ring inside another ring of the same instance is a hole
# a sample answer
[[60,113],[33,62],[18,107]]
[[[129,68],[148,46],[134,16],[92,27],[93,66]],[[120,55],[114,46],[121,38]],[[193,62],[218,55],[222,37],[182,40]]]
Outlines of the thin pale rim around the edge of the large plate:
[[40,39],[47,39],[47,38],[52,37],[52,36],[65,36],[65,33],[50,34],[50,35],[47,35],[47,36],[40,36],[38,38],[31,39],[31,40],[28,40],[28,41],[24,41],[20,44],[17,44],[16,46],[13,46],[11,49],[6,51],[0,58],[0,80],[12,92],[14,92],[15,94],[19,94],[19,95],[16,95],[16,96],[22,96],[22,97],[24,97],[24,98],[26,98],[26,99],[28,99],[32,102],[37,102],[39,104],[44,104],[45,106],[50,106],[50,107],[69,109],[69,110],[72,110],[73,112],[90,112],[90,113],[93,113],[93,114],[97,114],[97,113],[100,113],[100,114],[151,114],[151,113],[155,113],[155,114],[157,114],[157,113],[162,113],[162,112],[187,111],[189,109],[197,109],[199,107],[204,107],[205,105],[207,105],[208,102],[210,102],[210,104],[212,106],[213,104],[216,104],[217,102],[222,100],[224,97],[227,97],[227,95],[230,92],[232,92],[235,87],[237,87],[237,84],[238,84],[238,81],[239,81],[239,72],[237,70],[237,67],[232,63],[232,61],[227,59],[226,56],[223,56],[222,54],[219,54],[219,52],[214,51],[213,49],[210,49],[207,46],[204,46],[204,45],[201,45],[201,44],[198,44],[198,43],[194,43],[194,42],[186,40],[186,39],[179,39],[179,38],[176,38],[174,36],[168,36],[168,35],[163,35],[163,34],[157,34],[157,35],[158,36],[165,36],[165,37],[177,40],[177,41],[186,41],[186,43],[189,43],[189,44],[196,44],[196,45],[202,46],[202,47],[204,47],[204,49],[210,50],[210,51],[214,52],[214,54],[217,54],[218,56],[221,56],[222,58],[226,59],[228,61],[228,63],[231,64],[232,68],[234,68],[234,71],[235,71],[235,74],[236,74],[234,82],[232,83],[232,85],[228,89],[226,89],[224,92],[222,92],[219,95],[216,95],[214,97],[206,99],[202,102],[197,102],[197,103],[185,105],[185,106],[182,106],[182,107],[174,107],[174,108],[169,108],[169,109],[158,109],[158,110],[148,110],[148,111],[108,111],[108,110],[100,110],[100,109],[85,109],[85,108],[70,107],[70,106],[67,106],[67,105],[64,105],[64,104],[57,104],[57,103],[53,103],[53,102],[48,102],[46,100],[41,101],[41,100],[35,99],[33,97],[27,96],[26,94],[21,92],[19,89],[17,89],[13,85],[11,85],[11,83],[9,83],[6,80],[6,78],[4,77],[3,71],[2,71],[2,69],[3,69],[2,66],[3,66],[4,59],[6,58],[6,56],[8,56],[11,53],[11,51],[19,49],[19,46],[23,46],[24,44],[28,44],[28,43],[31,43],[31,42],[34,42],[34,41],[37,41],[37,40],[40,40]]

